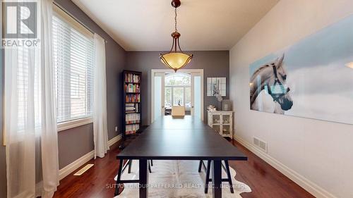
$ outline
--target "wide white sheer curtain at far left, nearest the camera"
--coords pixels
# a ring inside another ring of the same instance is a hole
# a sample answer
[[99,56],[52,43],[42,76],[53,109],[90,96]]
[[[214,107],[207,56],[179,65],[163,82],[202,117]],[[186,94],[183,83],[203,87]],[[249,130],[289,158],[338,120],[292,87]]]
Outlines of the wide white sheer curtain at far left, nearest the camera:
[[59,185],[52,1],[37,1],[40,46],[5,49],[8,198],[52,197]]

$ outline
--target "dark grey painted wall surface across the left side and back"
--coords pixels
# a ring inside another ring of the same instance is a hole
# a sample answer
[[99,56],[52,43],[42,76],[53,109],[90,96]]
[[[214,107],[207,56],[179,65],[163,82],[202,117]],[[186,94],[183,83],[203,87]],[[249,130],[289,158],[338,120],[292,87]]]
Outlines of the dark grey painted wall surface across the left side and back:
[[[121,72],[124,69],[143,72],[143,123],[150,123],[150,70],[164,69],[158,58],[160,51],[126,52],[116,44],[96,23],[70,0],[56,0],[82,23],[107,40],[107,119],[109,140],[119,135],[122,128]],[[1,50],[1,49],[0,49]],[[204,69],[204,80],[208,77],[227,77],[227,98],[229,98],[229,51],[192,51],[194,58],[187,68]],[[4,66],[0,54],[0,142],[3,143],[3,88]],[[206,81],[204,82],[206,89]],[[204,90],[204,94],[206,91]],[[217,104],[215,97],[206,97],[204,106]],[[206,119],[205,111],[205,120]],[[118,132],[115,132],[115,126]],[[93,149],[92,124],[59,132],[59,168],[79,159]],[[0,146],[0,197],[6,197],[6,157],[5,147]]]

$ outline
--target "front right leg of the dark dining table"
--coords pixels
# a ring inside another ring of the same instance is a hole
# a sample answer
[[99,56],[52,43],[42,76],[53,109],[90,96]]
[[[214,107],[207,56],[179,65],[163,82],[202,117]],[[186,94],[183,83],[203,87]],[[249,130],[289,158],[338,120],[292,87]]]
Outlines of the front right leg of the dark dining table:
[[213,198],[222,197],[222,161],[214,160],[212,166]]

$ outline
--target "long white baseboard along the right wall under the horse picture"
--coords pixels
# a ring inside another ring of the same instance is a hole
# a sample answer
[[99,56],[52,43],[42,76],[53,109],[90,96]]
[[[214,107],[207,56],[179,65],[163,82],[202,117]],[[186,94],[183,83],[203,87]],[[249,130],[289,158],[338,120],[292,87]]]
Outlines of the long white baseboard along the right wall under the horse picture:
[[236,135],[234,135],[234,139],[237,140],[237,142],[242,144],[244,147],[246,147],[246,149],[249,149],[251,152],[253,152],[253,154],[256,154],[265,162],[269,163],[271,166],[273,166],[273,168],[276,168],[277,171],[280,171],[283,175],[286,175],[287,178],[296,182],[297,185],[304,188],[309,193],[313,194],[313,196],[318,198],[337,198],[330,192],[324,190],[322,187],[316,185],[314,182],[311,182],[311,180],[305,178],[303,175],[300,175],[296,171],[285,166],[285,164],[281,163],[280,161],[277,161],[277,159],[274,159],[269,154],[266,154],[264,151],[261,151],[253,144],[241,139],[241,137],[237,137]]

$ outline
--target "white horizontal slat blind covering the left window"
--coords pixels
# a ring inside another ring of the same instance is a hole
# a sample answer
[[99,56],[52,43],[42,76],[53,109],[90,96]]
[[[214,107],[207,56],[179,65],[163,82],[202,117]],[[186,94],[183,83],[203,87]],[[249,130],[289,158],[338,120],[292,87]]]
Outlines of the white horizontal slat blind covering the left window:
[[92,32],[54,7],[56,113],[63,123],[92,116],[94,44]]

